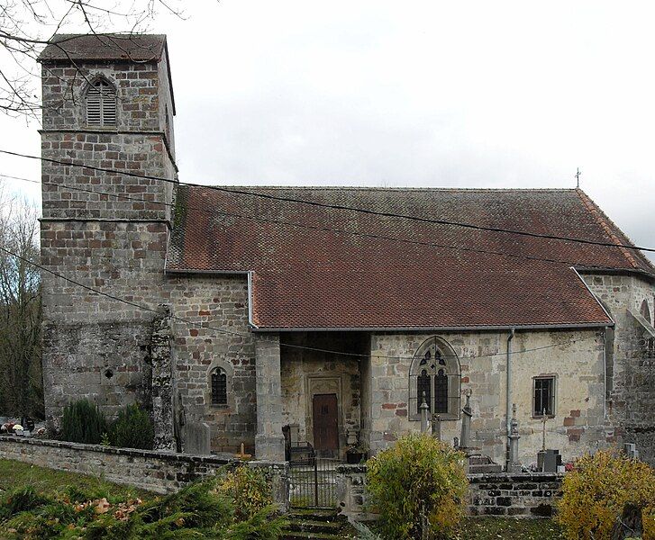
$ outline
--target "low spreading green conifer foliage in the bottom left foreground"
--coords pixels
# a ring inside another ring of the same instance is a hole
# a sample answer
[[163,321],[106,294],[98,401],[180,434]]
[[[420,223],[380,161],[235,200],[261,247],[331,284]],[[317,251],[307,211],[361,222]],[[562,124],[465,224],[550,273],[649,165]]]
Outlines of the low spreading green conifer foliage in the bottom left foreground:
[[216,489],[223,482],[220,476],[196,481],[149,500],[77,487],[46,496],[22,487],[0,493],[0,538],[278,540],[287,521],[277,508],[264,506],[240,518],[238,502]]

